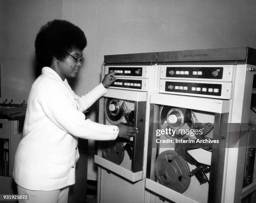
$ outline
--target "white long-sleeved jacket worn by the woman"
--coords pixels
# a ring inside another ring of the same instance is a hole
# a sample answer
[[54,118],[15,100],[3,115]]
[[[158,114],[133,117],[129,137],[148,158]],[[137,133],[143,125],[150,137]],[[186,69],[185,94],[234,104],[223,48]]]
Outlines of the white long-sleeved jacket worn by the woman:
[[79,97],[53,69],[42,69],[28,97],[23,139],[15,154],[13,178],[18,185],[49,191],[75,183],[77,137],[115,140],[118,135],[117,126],[85,120],[82,113],[106,92],[100,83]]

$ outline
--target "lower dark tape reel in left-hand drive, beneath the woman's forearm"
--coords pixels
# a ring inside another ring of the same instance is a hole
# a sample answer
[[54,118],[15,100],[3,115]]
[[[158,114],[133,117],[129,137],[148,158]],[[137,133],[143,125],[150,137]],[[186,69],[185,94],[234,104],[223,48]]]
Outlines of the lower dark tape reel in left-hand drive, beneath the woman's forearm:
[[103,158],[115,163],[120,164],[124,158],[123,142],[119,138],[108,141],[107,144],[104,144],[104,149],[102,150]]

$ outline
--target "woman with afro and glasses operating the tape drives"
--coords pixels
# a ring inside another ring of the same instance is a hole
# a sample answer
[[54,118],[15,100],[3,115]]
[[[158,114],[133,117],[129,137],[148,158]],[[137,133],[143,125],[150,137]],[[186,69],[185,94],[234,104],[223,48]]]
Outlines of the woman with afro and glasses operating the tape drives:
[[129,139],[137,132],[122,124],[102,125],[85,120],[82,112],[116,80],[115,74],[109,73],[86,95],[75,95],[67,78],[77,76],[86,44],[83,31],[65,20],[47,23],[36,36],[36,58],[44,68],[32,85],[23,139],[15,154],[13,178],[18,193],[29,195],[29,201],[20,202],[67,203],[69,185],[75,183],[78,137]]

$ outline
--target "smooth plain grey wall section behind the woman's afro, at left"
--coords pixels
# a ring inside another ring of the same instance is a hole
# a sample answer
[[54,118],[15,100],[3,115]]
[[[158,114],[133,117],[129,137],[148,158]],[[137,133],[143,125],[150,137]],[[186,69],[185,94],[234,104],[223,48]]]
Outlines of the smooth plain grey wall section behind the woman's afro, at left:
[[47,21],[61,19],[61,12],[61,0],[0,0],[0,103],[27,101],[36,78],[36,34]]

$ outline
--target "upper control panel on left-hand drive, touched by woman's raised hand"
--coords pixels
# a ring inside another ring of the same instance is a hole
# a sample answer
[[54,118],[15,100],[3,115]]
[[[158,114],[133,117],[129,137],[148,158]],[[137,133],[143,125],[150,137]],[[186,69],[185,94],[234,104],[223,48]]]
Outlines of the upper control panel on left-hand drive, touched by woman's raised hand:
[[125,78],[149,78],[149,69],[147,65],[122,65],[122,66],[105,66],[105,74],[113,73],[118,77]]

